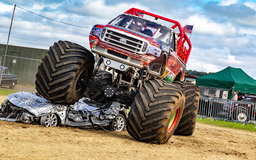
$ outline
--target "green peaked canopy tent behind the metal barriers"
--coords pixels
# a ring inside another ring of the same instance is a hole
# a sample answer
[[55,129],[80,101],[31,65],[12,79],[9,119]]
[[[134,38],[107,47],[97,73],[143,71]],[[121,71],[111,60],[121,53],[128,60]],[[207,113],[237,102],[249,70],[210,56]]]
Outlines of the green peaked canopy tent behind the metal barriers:
[[222,88],[229,90],[228,99],[233,90],[256,95],[256,80],[248,76],[241,68],[227,67],[211,75],[196,78],[197,86]]

